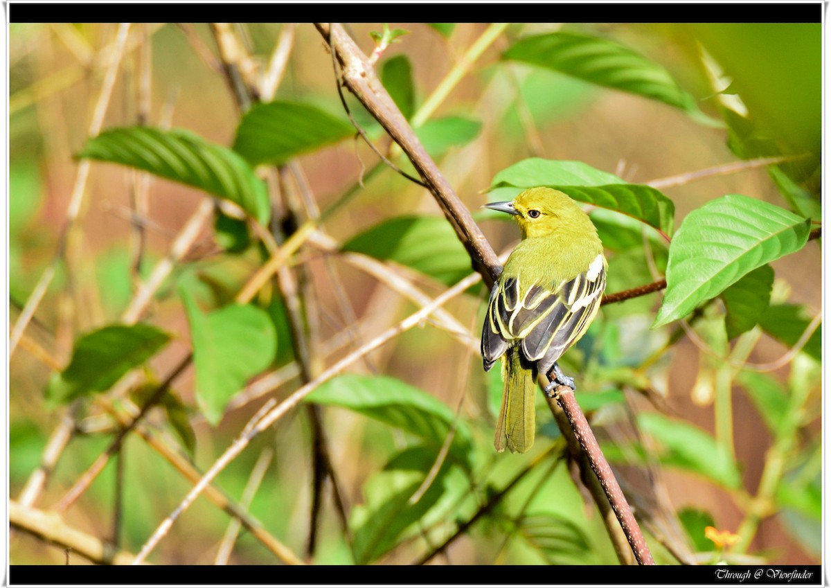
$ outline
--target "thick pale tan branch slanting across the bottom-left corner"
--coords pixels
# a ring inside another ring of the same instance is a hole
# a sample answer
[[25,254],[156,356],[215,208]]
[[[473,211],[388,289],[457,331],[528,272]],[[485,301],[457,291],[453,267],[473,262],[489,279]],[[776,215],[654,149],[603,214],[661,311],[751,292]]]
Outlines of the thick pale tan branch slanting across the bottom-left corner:
[[15,500],[8,503],[8,519],[12,528],[31,533],[44,541],[66,548],[98,564],[126,566],[133,554],[115,547],[88,533],[71,527],[54,512],[23,506]]

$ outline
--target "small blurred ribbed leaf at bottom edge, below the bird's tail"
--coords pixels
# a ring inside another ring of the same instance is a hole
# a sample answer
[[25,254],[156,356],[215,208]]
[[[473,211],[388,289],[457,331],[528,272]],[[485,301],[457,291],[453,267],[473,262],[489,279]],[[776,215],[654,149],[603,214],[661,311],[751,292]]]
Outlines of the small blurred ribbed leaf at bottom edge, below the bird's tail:
[[550,512],[525,515],[519,519],[518,530],[549,566],[573,563],[575,553],[591,548],[580,527]]

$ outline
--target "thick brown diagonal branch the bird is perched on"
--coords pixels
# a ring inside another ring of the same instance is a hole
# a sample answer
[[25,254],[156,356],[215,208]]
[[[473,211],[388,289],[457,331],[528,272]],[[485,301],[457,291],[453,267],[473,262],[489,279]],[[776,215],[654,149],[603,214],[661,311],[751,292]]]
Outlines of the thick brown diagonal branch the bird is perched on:
[[[487,239],[484,238],[473,218],[470,217],[468,209],[465,208],[465,205],[461,203],[453,189],[450,188],[447,180],[442,176],[438,167],[430,159],[430,155],[427,154],[416,138],[416,134],[407,123],[406,118],[401,115],[401,111],[398,110],[381,81],[378,80],[371,63],[341,25],[316,22],[315,27],[329,43],[332,50],[336,52],[337,60],[340,61],[343,70],[344,86],[361,101],[366,110],[381,123],[387,134],[401,146],[421,178],[424,179],[436,202],[439,203],[457,237],[465,245],[473,267],[481,274],[485,284],[491,287],[496,278],[499,277],[499,273],[502,272],[496,253],[490,247]],[[640,294],[637,296],[640,296]],[[588,423],[579,405],[574,401],[564,402],[561,406],[568,415],[568,421],[573,427],[575,436],[581,442],[583,450],[587,451],[587,446],[584,444],[587,436],[582,425],[585,424],[585,429],[588,429],[591,439],[594,439],[594,436],[591,434],[591,429],[588,428]],[[563,434],[566,433],[567,429],[563,430]],[[594,447],[597,448],[596,441]],[[597,448],[597,453],[602,458],[599,448]],[[652,556],[646,542],[643,541],[631,509],[625,500],[622,502],[618,500],[618,494],[620,496],[622,494],[611,468],[608,468],[608,464],[605,468],[602,468],[602,463],[606,463],[605,459],[602,459],[601,463],[596,457],[596,455],[590,455],[589,461],[592,462],[594,458],[593,471],[597,474],[602,488],[606,491],[607,498],[612,503],[612,509],[621,522],[624,532],[627,533],[632,551],[634,551],[639,562],[652,563]],[[595,465],[597,465],[597,468],[594,467]],[[612,488],[617,488],[618,492],[611,492]]]

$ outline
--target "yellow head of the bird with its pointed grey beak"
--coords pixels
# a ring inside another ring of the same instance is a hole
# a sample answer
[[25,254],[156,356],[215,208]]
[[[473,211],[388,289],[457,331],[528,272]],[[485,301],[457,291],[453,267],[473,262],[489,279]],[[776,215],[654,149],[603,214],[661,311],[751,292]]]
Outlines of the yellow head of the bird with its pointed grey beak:
[[572,231],[597,235],[597,229],[583,209],[566,194],[552,188],[529,188],[510,202],[493,202],[485,207],[512,214],[522,229],[523,238]]

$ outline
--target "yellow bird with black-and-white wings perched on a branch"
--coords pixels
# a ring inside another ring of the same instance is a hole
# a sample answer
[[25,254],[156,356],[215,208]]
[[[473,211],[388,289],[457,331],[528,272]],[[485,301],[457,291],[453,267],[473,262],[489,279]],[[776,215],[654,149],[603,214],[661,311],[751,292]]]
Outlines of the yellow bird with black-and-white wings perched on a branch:
[[524,453],[534,444],[537,374],[553,368],[547,393],[559,384],[574,390],[557,361],[597,316],[608,264],[588,214],[558,190],[531,188],[486,206],[513,215],[522,230],[490,292],[482,359],[487,371],[503,358],[494,447]]

